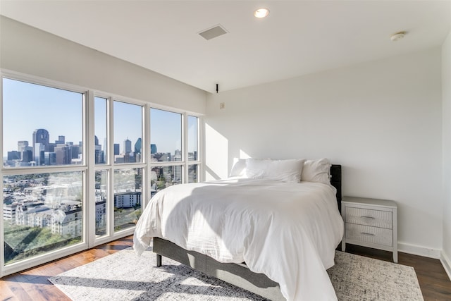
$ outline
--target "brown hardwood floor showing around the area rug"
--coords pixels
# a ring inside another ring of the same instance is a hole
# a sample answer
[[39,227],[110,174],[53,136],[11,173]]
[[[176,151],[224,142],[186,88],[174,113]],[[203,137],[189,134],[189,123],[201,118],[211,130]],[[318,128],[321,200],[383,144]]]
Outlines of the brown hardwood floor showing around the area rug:
[[[70,300],[47,278],[87,264],[132,245],[132,236],[0,279],[0,300]],[[392,261],[392,253],[347,245],[347,252]],[[438,259],[399,253],[399,263],[413,266],[425,301],[451,300],[451,281]]]

